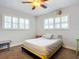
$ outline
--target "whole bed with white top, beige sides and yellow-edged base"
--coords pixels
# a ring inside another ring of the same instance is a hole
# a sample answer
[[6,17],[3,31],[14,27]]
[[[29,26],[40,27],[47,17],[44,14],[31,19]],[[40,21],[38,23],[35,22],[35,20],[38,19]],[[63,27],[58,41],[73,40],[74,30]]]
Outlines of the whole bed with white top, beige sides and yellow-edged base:
[[32,52],[41,59],[49,59],[62,46],[61,39],[36,38],[25,40],[22,48]]

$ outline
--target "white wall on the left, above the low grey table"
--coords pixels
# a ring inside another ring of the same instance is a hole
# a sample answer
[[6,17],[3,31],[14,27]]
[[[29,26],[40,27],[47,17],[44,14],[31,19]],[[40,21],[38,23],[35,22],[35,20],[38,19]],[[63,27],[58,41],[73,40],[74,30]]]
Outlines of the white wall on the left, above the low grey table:
[[[30,20],[30,30],[4,30],[2,28],[2,17],[4,15],[9,15],[9,16],[17,16],[17,17],[22,17]],[[35,37],[35,17],[31,16],[29,14],[25,14],[13,9],[9,9],[6,7],[1,7],[0,6],[0,40],[11,40],[11,45],[18,45],[20,44],[23,40],[26,40],[28,38],[34,38]]]

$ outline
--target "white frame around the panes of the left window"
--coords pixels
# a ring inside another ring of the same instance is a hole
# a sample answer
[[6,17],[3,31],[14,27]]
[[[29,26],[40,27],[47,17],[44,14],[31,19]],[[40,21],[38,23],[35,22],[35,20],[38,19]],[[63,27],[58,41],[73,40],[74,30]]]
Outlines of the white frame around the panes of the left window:
[[[9,29],[9,28],[5,28],[5,16],[10,16],[10,17],[11,17],[11,28],[10,28],[10,29]],[[18,19],[18,24],[17,24],[17,27],[18,27],[18,28],[16,28],[16,29],[13,28],[13,17],[15,17],[15,18]],[[24,21],[25,21],[26,19],[29,21],[29,25],[28,25],[28,26],[29,26],[29,29],[25,29],[25,28],[24,28],[24,29],[20,29],[20,27],[19,27],[19,18],[21,18],[21,17],[11,16],[11,15],[3,15],[3,16],[2,16],[2,20],[1,20],[1,22],[2,22],[2,23],[1,23],[1,24],[2,24],[2,25],[1,25],[2,29],[3,29],[3,30],[9,30],[9,31],[10,31],[10,30],[16,30],[16,31],[18,31],[18,30],[21,30],[21,31],[30,30],[30,20],[29,20],[28,18],[23,18]],[[24,23],[25,23],[25,22],[24,22]],[[25,25],[24,25],[24,27],[25,27]]]

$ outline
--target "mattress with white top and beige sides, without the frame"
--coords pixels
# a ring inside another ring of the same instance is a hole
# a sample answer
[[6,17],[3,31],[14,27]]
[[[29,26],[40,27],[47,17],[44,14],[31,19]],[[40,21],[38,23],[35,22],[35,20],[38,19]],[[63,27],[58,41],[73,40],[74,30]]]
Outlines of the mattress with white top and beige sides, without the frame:
[[41,56],[48,56],[52,52],[52,49],[58,47],[61,43],[61,39],[37,38],[25,40],[23,42],[23,46],[31,49]]

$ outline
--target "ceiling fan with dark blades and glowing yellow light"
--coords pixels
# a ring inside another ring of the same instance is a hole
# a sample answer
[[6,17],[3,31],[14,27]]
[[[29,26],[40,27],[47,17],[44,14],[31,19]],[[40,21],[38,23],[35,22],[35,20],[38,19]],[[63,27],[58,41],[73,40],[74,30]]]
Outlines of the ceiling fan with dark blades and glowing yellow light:
[[47,8],[47,6],[45,5],[45,3],[47,2],[48,0],[33,0],[33,1],[23,1],[22,3],[25,4],[25,3],[31,3],[33,5],[32,7],[32,10],[34,10],[36,7],[43,7],[43,8]]

